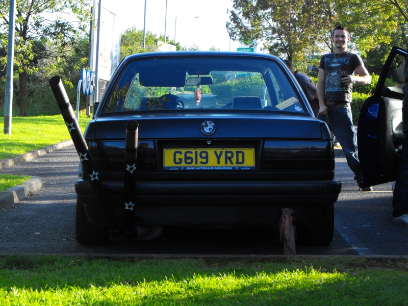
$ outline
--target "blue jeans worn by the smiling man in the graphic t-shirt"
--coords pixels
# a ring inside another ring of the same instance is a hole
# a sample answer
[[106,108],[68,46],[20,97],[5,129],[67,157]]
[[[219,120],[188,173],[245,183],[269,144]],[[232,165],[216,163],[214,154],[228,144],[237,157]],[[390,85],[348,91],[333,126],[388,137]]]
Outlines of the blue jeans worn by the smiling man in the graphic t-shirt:
[[347,165],[354,172],[354,180],[362,177],[357,148],[357,133],[353,124],[350,104],[335,110],[327,109],[327,115],[319,114],[318,119],[325,121],[335,134],[346,155]]

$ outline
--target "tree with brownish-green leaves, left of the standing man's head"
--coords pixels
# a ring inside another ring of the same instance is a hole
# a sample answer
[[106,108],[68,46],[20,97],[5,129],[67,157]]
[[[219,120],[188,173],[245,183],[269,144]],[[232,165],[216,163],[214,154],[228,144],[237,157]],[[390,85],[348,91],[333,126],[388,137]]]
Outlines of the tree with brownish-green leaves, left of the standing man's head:
[[320,0],[234,0],[226,28],[234,40],[262,40],[270,54],[300,59],[319,46],[324,4]]

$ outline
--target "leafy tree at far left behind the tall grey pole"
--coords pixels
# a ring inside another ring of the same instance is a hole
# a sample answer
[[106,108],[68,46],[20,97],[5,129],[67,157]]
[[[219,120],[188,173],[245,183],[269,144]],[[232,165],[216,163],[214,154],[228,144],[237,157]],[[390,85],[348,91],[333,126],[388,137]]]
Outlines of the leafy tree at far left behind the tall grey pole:
[[[0,34],[8,33],[9,9],[9,1],[0,3]],[[40,59],[61,62],[67,48],[88,30],[90,17],[89,0],[16,0],[14,66],[19,74],[20,116],[27,115],[28,75],[39,70]],[[7,45],[4,35],[0,39]],[[5,66],[7,58],[1,57],[0,62]],[[61,67],[50,66],[49,71],[54,68]]]

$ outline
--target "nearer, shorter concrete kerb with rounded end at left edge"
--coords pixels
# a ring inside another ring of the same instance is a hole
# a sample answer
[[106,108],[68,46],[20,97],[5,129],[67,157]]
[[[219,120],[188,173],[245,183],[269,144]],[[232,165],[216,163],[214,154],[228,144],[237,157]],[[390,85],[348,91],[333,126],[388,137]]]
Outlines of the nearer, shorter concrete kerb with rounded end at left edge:
[[25,181],[21,185],[16,185],[0,192],[0,208],[5,208],[6,206],[19,202],[28,197],[30,193],[36,192],[41,187],[41,178],[38,176],[31,176],[30,180]]

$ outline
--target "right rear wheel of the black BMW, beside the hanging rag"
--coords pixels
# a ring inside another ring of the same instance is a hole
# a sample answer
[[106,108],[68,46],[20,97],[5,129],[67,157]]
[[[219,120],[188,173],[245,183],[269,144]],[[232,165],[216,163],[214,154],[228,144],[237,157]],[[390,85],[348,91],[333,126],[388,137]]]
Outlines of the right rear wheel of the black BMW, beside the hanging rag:
[[299,243],[305,245],[327,245],[333,240],[335,230],[334,203],[328,206],[327,217],[322,223],[297,225],[296,233]]

